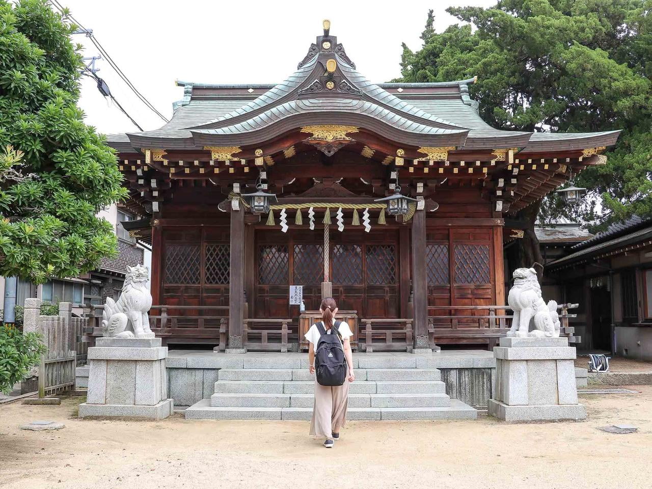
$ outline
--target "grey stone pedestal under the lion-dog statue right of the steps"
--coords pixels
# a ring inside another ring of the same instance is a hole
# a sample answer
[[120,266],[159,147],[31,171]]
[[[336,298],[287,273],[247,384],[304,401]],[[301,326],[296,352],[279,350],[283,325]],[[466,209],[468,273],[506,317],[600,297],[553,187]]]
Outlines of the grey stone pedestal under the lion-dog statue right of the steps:
[[568,338],[501,338],[494,348],[496,388],[488,411],[503,421],[584,419]]

